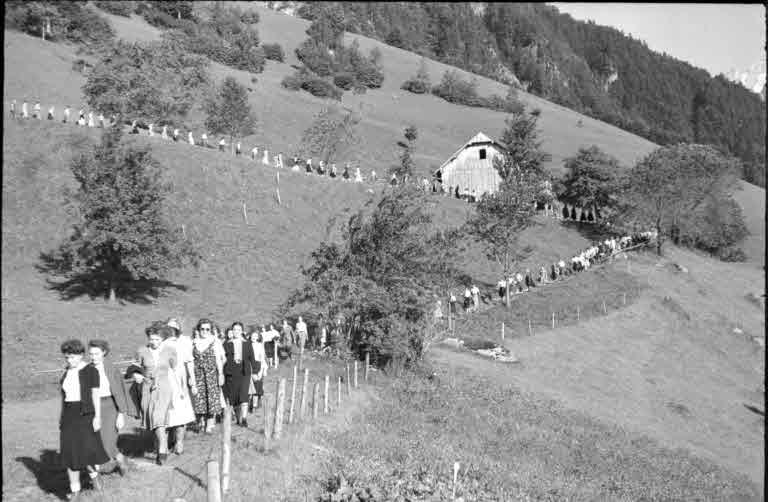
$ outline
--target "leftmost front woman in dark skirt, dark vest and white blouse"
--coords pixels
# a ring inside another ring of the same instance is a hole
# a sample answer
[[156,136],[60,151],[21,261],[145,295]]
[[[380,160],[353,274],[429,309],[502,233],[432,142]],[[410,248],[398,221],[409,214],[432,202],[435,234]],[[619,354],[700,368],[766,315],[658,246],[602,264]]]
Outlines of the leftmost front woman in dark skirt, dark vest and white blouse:
[[101,443],[99,371],[83,360],[80,340],[61,344],[67,370],[61,378],[61,463],[69,477],[69,500],[80,493],[80,471],[87,470],[94,488],[101,490],[97,466],[109,461]]

